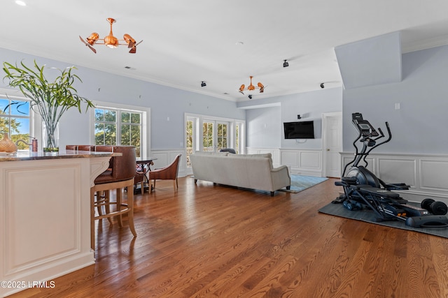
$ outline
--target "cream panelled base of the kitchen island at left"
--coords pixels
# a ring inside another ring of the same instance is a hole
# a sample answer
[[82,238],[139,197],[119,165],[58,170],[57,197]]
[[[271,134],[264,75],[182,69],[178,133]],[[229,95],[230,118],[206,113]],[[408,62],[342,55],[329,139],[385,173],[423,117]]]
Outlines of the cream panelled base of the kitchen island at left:
[[90,186],[109,158],[0,162],[1,297],[94,264]]

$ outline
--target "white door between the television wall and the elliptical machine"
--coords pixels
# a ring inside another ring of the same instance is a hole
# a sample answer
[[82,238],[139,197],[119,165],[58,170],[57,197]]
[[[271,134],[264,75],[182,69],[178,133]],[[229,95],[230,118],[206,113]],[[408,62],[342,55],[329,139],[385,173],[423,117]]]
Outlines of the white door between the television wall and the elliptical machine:
[[325,177],[341,177],[342,113],[323,114],[323,161]]

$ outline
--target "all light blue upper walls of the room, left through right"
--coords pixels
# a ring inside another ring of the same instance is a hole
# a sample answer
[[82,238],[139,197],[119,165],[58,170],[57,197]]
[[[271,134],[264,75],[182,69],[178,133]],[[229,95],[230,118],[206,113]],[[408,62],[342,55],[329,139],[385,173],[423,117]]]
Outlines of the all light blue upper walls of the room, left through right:
[[[0,49],[1,61],[24,61],[57,68],[71,66],[60,61],[34,57]],[[368,57],[365,57],[368,59]],[[375,127],[391,124],[393,140],[377,152],[410,154],[447,154],[448,138],[448,46],[402,55],[402,82],[379,84],[353,89],[319,91],[265,98],[258,104],[279,103],[277,107],[258,110],[239,109],[228,100],[160,86],[128,77],[79,67],[83,84],[77,85],[81,96],[102,102],[121,103],[151,108],[151,148],[179,149],[183,140],[183,114],[204,114],[216,117],[246,119],[248,147],[321,149],[321,115],[343,111],[344,151],[353,151],[351,142],[356,131],[351,126],[351,113],[362,112]],[[0,87],[5,87],[0,80]],[[98,90],[99,89],[99,90]],[[141,96],[141,98],[140,98]],[[400,110],[395,110],[395,103]],[[247,103],[246,103],[247,104]],[[248,105],[257,105],[253,100]],[[247,116],[246,116],[247,112]],[[296,143],[283,139],[282,123],[297,120],[319,120],[316,140]],[[169,117],[169,121],[167,121]],[[264,129],[266,124],[266,129]],[[275,127],[276,126],[276,127]],[[61,121],[61,145],[89,143],[88,114],[69,110]]]

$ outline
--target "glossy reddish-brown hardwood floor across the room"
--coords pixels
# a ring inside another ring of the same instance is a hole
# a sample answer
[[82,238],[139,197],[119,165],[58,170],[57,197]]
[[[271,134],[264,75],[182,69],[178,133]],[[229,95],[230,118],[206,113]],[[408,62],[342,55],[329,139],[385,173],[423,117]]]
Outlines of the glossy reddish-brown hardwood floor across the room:
[[11,297],[448,297],[448,239],[319,214],[334,181],[274,197],[158,181],[135,195],[137,238],[103,220],[95,265]]

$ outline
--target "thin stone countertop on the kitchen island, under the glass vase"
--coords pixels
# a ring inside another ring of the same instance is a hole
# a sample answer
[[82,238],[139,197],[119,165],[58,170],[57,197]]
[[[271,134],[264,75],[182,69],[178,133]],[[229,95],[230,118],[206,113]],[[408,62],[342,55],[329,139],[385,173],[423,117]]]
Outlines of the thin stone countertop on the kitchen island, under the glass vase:
[[90,151],[75,151],[75,150],[61,150],[59,152],[30,152],[19,151],[13,154],[0,153],[0,162],[2,161],[38,161],[44,159],[60,159],[60,158],[91,158],[102,156],[119,156],[121,154],[112,152],[90,152]]

